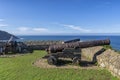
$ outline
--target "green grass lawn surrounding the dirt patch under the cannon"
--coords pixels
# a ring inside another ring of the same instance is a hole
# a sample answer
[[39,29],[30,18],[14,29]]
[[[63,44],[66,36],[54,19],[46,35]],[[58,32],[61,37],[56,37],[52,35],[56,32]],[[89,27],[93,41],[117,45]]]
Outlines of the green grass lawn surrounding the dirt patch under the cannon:
[[106,70],[43,69],[32,63],[45,55],[34,51],[12,58],[0,58],[0,80],[118,80]]

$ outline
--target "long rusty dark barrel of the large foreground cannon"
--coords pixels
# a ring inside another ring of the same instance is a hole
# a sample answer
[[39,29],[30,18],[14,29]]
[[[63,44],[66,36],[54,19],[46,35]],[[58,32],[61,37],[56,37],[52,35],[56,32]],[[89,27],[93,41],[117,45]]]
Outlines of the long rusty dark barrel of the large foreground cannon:
[[110,40],[93,40],[93,41],[84,41],[84,42],[72,42],[59,45],[51,45],[48,48],[48,53],[61,52],[65,48],[87,48],[101,45],[109,45]]

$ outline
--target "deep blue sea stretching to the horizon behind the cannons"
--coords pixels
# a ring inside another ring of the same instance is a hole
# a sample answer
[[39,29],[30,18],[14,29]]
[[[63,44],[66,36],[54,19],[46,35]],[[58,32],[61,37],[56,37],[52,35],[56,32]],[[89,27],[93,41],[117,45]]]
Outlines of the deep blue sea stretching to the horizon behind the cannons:
[[102,40],[102,39],[110,39],[111,41],[111,46],[113,49],[115,50],[119,50],[120,51],[120,36],[73,36],[73,35],[45,35],[45,36],[39,36],[39,35],[36,35],[36,36],[18,36],[20,38],[21,41],[28,41],[28,40],[35,40],[35,41],[38,41],[38,40],[45,40],[45,41],[48,41],[48,40],[62,40],[62,41],[66,41],[66,40],[72,40],[72,39],[80,39],[81,41],[88,41],[88,40]]

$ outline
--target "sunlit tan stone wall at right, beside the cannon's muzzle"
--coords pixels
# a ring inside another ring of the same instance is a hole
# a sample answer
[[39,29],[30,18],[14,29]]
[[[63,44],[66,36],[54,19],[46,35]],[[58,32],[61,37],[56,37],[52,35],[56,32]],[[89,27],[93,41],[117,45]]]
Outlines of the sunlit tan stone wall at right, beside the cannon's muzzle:
[[120,78],[120,54],[114,50],[104,50],[103,47],[82,49],[82,55],[91,61],[97,60],[98,65],[109,70],[114,76]]

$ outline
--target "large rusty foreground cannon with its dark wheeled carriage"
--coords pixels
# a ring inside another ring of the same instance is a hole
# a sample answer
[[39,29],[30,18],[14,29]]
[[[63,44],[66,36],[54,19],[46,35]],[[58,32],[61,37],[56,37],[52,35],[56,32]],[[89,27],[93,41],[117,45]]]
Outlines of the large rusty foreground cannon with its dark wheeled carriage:
[[48,64],[57,64],[58,58],[71,58],[73,64],[79,64],[81,61],[81,48],[94,46],[109,45],[110,40],[93,40],[84,42],[71,42],[59,45],[51,45],[47,49],[48,54],[43,58],[47,58]]

